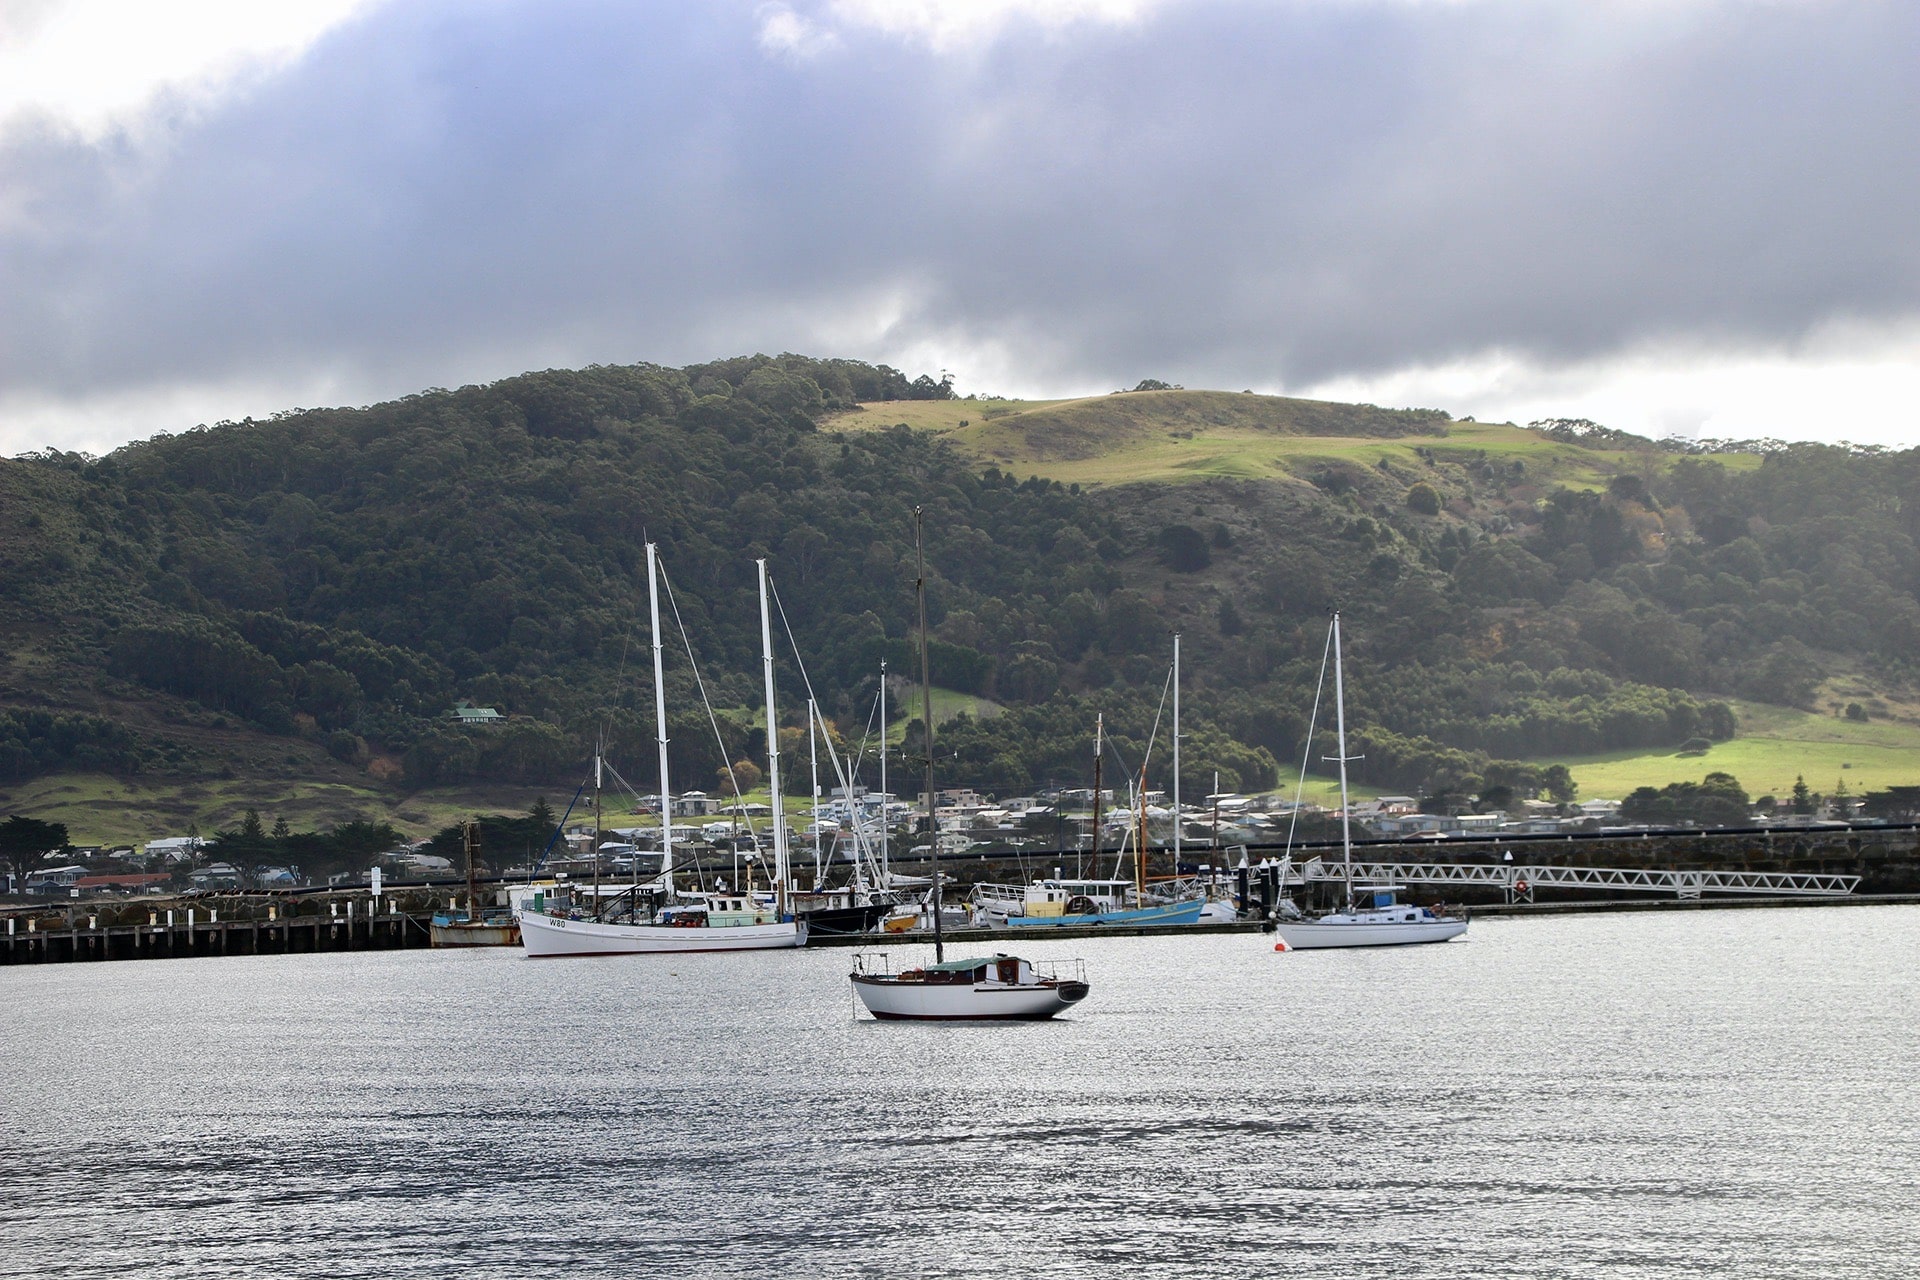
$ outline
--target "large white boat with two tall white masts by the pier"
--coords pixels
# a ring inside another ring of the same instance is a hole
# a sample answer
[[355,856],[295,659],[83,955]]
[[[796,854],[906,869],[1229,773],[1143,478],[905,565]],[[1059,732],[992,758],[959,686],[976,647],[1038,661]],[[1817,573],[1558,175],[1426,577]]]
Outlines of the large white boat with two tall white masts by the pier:
[[[636,956],[651,952],[747,952],[806,944],[806,921],[787,912],[787,827],[780,812],[780,731],[774,723],[774,647],[766,610],[766,560],[760,560],[760,645],[766,662],[766,743],[774,802],[774,906],[753,894],[707,894],[674,902],[674,804],[666,768],[666,685],[660,662],[659,551],[647,543],[647,603],[653,618],[653,714],[660,758],[660,875],[653,889],[662,906],[651,921],[639,921],[639,892],[632,896],[632,921],[603,919],[599,894],[591,910],[580,910],[566,890],[553,898],[536,894],[520,910],[520,944],[528,956]],[[599,789],[601,758],[593,756],[593,785]],[[595,850],[597,854],[597,850]]]

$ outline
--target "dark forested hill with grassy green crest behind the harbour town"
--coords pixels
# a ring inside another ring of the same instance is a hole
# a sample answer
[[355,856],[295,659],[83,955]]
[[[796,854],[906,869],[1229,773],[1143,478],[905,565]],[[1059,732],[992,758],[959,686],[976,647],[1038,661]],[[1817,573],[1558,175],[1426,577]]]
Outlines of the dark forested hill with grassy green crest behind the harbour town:
[[[1396,789],[1536,789],[1555,754],[1732,735],[1732,695],[1914,676],[1920,451],[1690,457],[1167,390],[1108,397],[1116,447],[1185,447],[1227,413],[1277,451],[1083,486],[1048,468],[1098,461],[1098,401],[1021,424],[948,395],[854,361],[595,367],[0,462],[0,777],[564,783],[601,723],[641,775],[653,539],[737,708],[722,748],[672,637],[676,766],[707,783],[762,750],[755,558],[858,737],[879,660],[910,670],[916,505],[935,683],[1008,708],[950,723],[943,770],[996,791],[1077,781],[1096,710],[1137,760],[1173,629],[1187,785],[1275,781],[1331,606],[1359,770]],[[455,700],[511,720],[453,727]]]

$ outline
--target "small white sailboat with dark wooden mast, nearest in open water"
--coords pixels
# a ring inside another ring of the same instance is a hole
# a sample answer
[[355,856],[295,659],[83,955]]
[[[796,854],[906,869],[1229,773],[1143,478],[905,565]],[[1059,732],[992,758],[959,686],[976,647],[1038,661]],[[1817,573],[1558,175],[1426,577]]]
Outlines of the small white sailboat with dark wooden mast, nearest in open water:
[[920,509],[914,507],[914,553],[920,578],[914,595],[920,604],[920,723],[927,735],[927,854],[933,887],[927,892],[933,917],[933,963],[893,971],[885,954],[854,956],[852,988],[868,1013],[883,1021],[1041,1021],[1087,998],[1085,967],[1073,961],[1035,965],[1004,952],[975,960],[947,960],[941,927],[939,825],[933,812],[933,672],[927,664],[927,553],[922,543]]

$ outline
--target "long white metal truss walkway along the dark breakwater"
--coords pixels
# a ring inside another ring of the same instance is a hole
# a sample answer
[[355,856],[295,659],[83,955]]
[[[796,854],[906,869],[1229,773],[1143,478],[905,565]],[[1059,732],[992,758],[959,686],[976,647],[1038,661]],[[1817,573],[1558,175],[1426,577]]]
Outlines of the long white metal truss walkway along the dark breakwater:
[[[1283,881],[1338,881],[1340,862],[1313,858]],[[1473,885],[1500,889],[1511,902],[1532,902],[1536,889],[1611,889],[1619,892],[1755,894],[1768,898],[1845,898],[1859,875],[1797,875],[1784,871],[1651,871],[1628,867],[1555,867],[1517,862],[1354,862],[1354,881],[1373,885]]]

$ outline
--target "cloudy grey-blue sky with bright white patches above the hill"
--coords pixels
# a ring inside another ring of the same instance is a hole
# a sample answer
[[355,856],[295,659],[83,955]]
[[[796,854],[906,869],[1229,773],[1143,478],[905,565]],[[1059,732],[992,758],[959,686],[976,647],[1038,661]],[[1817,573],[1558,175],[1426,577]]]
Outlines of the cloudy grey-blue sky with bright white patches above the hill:
[[1907,0],[0,0],[0,455],[801,351],[1920,445]]

